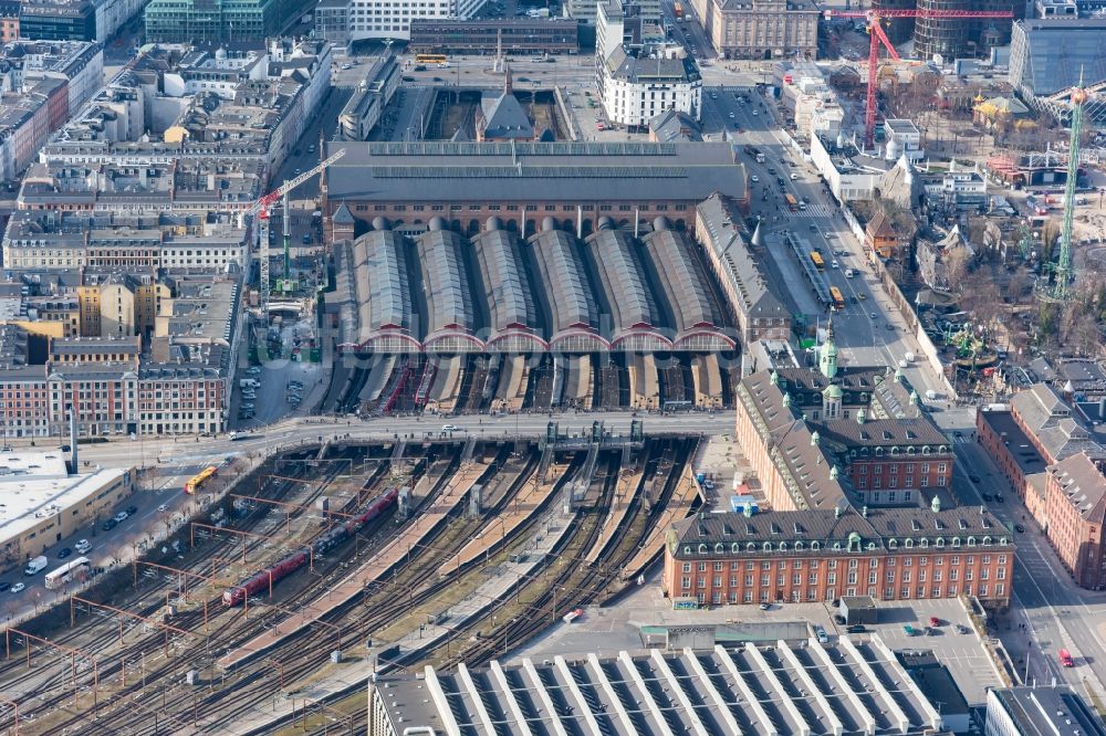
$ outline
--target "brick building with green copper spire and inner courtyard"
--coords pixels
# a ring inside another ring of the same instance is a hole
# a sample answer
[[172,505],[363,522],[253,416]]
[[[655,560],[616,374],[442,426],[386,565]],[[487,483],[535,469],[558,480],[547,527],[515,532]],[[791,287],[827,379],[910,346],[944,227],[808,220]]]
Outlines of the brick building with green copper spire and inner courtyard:
[[952,444],[900,370],[839,367],[832,324],[818,362],[737,387],[734,437],[773,509],[920,506],[952,484]]

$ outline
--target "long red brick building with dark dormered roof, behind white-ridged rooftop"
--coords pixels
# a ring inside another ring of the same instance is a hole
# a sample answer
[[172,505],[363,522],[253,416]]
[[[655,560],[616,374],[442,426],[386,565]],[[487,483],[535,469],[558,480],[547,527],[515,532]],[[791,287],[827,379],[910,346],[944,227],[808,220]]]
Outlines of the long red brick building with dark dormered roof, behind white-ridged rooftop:
[[978,506],[700,514],[674,524],[661,586],[699,604],[843,596],[1010,603],[1014,544]]

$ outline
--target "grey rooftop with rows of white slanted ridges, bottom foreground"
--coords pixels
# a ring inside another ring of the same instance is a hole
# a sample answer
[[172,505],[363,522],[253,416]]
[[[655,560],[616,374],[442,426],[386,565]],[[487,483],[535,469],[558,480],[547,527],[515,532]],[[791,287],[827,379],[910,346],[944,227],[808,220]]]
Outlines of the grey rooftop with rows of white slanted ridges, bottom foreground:
[[[838,667],[851,673],[859,696],[841,697]],[[894,695],[887,690],[893,682]],[[814,728],[914,736],[941,725],[878,637],[497,661],[456,672],[427,666],[416,675],[378,677],[371,687],[375,714],[394,733],[766,735]]]

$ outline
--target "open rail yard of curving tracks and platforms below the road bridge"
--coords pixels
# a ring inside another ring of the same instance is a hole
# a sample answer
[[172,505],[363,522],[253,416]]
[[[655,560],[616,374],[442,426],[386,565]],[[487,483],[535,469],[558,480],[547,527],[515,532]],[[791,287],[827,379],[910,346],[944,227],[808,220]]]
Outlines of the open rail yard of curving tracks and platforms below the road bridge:
[[18,711],[0,728],[353,724],[374,667],[486,663],[635,585],[698,503],[695,440],[592,440],[270,458],[201,493],[165,546],[6,630]]

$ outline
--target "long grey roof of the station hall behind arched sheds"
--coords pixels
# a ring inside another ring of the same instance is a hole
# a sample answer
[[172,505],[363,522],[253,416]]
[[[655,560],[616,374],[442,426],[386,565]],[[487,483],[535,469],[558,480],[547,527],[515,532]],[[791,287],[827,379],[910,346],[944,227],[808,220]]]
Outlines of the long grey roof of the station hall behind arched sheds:
[[[744,199],[726,143],[352,143],[326,171],[333,201],[699,201]],[[328,153],[333,153],[330,150]]]

